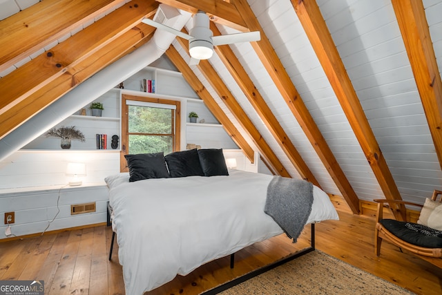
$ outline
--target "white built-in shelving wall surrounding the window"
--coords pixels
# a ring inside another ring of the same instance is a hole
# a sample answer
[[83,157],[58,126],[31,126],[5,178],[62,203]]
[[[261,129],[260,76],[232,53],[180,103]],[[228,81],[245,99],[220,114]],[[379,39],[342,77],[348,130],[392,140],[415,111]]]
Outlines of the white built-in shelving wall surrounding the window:
[[[155,92],[148,93],[142,89],[144,79],[155,81]],[[120,84],[121,85],[121,84]],[[187,143],[198,144],[202,148],[238,149],[238,146],[231,140],[224,131],[221,124],[215,119],[212,113],[206,108],[204,102],[187,84],[182,74],[174,70],[165,70],[147,66],[135,75],[122,81],[124,88],[115,88],[98,97],[94,102],[102,102],[104,110],[102,117],[90,115],[90,104],[79,108],[77,112],[70,115],[66,120],[57,124],[59,126],[76,126],[86,137],[85,142],[73,140],[70,150],[78,151],[121,151],[121,97],[122,94],[136,95],[142,97],[157,97],[173,99],[181,102],[182,130],[181,146],[186,147]],[[82,110],[86,115],[81,115]],[[194,111],[198,113],[197,123],[190,123],[188,114]],[[200,123],[204,120],[204,123]],[[97,134],[106,134],[107,149],[97,149]],[[117,135],[119,142],[117,149],[111,148],[112,137]],[[24,150],[61,150],[60,139],[46,137],[41,134],[37,139],[23,147]]]

